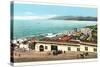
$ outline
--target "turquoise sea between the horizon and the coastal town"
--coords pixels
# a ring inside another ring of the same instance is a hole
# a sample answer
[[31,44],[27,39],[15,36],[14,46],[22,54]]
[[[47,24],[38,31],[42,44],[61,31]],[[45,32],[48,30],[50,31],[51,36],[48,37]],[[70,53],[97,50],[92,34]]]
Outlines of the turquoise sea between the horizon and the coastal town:
[[60,33],[96,24],[96,21],[14,20],[11,32],[13,32],[13,38],[18,39],[46,33]]

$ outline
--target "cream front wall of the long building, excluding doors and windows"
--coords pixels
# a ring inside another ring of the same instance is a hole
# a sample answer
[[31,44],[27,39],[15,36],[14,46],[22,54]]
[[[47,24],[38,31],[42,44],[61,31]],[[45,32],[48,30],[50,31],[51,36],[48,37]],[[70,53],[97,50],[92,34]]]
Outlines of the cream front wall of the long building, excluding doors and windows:
[[[57,44],[43,44],[43,43],[37,43],[35,46],[35,50],[39,51],[39,46],[44,46],[44,51],[51,51],[51,45],[57,45]],[[45,46],[47,46],[47,49],[45,49]],[[80,48],[80,51],[84,52],[94,52],[94,48],[97,48],[95,46],[89,46],[89,45],[80,45],[80,46],[69,46],[69,45],[57,45],[58,50],[62,51],[68,51],[68,47],[71,48],[70,51],[77,51],[77,48]],[[88,51],[85,50],[85,47],[88,47]]]

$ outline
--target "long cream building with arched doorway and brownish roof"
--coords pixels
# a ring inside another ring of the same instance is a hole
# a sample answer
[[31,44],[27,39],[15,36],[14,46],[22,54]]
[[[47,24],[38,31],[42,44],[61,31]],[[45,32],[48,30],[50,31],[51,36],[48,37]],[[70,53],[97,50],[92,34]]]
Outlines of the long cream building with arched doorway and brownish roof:
[[91,43],[64,43],[64,42],[50,42],[37,41],[35,44],[35,51],[82,51],[82,52],[97,52],[96,44]]

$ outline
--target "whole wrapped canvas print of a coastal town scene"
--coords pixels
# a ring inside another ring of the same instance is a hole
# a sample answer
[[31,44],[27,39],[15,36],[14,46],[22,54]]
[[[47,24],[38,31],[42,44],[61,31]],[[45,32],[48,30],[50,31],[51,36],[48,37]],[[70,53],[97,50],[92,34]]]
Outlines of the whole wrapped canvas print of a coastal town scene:
[[97,8],[11,2],[10,61],[97,58]]

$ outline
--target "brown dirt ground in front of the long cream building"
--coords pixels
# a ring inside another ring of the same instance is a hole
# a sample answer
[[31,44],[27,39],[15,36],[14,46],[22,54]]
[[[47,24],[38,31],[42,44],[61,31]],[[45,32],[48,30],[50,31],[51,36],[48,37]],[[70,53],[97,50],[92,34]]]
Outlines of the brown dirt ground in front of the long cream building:
[[51,60],[72,60],[72,59],[89,59],[97,58],[96,53],[88,53],[88,56],[82,56],[83,52],[72,52],[68,51],[62,54],[53,55],[52,52],[35,52],[25,51],[18,52],[14,51],[12,58],[14,62],[36,62],[36,61],[51,61]]

